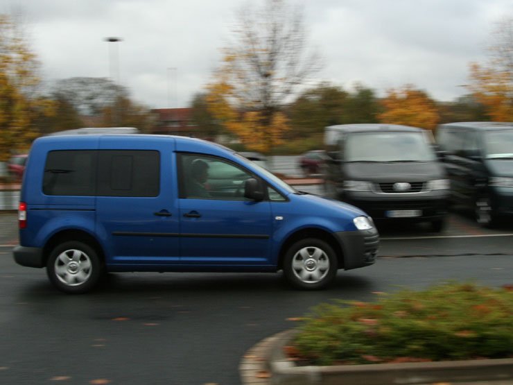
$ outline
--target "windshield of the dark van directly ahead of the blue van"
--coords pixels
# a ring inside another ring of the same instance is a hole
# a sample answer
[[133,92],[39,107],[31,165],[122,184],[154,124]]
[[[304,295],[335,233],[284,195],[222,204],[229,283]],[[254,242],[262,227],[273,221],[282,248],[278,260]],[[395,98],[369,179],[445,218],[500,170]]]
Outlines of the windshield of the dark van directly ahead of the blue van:
[[435,153],[421,132],[358,132],[345,140],[347,162],[433,162]]

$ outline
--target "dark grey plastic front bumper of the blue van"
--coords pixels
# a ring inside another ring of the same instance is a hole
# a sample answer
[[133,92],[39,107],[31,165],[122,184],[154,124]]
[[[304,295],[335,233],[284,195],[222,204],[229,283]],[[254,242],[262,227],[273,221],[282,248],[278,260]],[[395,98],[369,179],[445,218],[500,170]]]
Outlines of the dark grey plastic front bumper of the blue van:
[[336,232],[335,237],[342,248],[344,270],[370,266],[376,262],[379,247],[379,233],[371,230]]

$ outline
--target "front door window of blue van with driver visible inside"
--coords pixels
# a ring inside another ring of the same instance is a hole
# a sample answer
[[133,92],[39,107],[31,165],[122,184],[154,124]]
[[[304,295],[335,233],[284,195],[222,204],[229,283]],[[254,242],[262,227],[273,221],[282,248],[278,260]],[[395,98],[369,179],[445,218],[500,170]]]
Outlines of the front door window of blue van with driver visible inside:
[[244,183],[252,175],[227,160],[200,154],[180,156],[180,198],[247,200]]

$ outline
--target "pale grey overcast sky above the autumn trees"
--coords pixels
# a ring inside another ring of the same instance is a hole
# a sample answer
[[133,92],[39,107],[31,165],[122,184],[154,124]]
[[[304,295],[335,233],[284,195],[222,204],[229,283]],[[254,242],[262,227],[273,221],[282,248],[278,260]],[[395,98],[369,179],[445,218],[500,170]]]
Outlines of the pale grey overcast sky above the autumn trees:
[[[262,0],[250,0],[253,4]],[[512,0],[289,0],[322,55],[318,80],[351,89],[408,83],[440,101],[466,90],[469,63],[485,63],[494,24]],[[186,107],[219,65],[246,0],[0,0],[20,11],[44,80],[117,77],[150,108]],[[107,43],[105,37],[121,37]],[[114,46],[113,46],[114,45]],[[114,58],[116,55],[114,54]],[[114,63],[116,61],[114,60]]]

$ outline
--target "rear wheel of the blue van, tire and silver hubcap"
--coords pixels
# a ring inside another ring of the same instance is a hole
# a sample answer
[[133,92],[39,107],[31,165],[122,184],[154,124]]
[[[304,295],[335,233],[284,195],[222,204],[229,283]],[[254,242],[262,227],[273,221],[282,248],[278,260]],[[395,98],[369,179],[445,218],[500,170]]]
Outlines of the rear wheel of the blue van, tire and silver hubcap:
[[96,250],[80,241],[60,243],[46,262],[50,282],[60,291],[71,294],[91,291],[104,270]]

